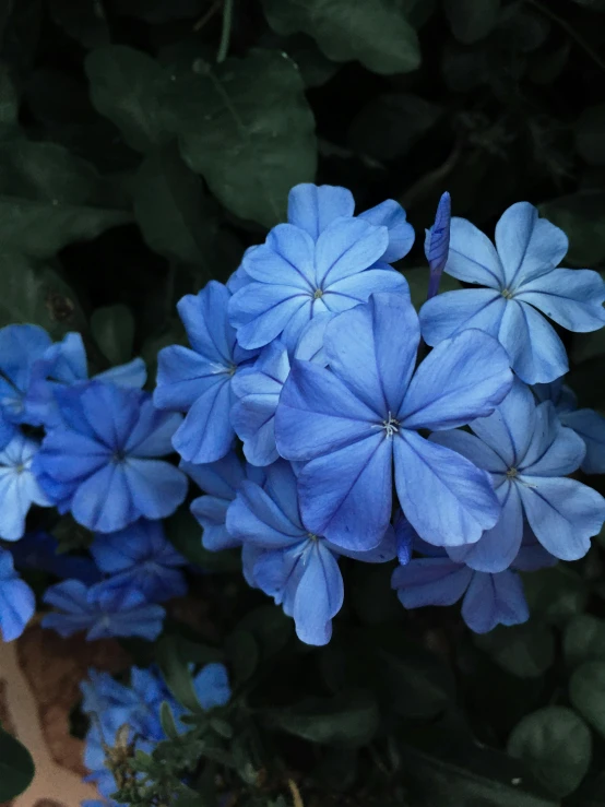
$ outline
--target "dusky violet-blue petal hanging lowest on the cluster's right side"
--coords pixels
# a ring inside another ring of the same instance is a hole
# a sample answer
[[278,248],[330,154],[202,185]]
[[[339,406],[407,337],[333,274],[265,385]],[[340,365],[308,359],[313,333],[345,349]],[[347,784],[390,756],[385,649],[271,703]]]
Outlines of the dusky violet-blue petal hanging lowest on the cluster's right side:
[[475,633],[487,633],[497,625],[520,625],[530,618],[518,574],[475,572],[462,603],[462,618]]

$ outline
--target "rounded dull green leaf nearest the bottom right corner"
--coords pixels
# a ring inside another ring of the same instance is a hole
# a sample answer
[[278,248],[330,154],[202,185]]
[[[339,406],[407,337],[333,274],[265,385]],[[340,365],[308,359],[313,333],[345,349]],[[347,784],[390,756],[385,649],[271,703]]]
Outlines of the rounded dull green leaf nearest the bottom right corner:
[[592,735],[572,709],[545,707],[517,724],[507,750],[522,759],[555,796],[567,796],[589,770]]

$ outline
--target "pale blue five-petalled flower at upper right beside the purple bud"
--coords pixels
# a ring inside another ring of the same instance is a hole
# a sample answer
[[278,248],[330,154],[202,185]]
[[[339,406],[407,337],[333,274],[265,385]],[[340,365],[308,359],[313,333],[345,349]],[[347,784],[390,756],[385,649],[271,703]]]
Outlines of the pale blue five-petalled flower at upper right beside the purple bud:
[[554,381],[567,372],[567,355],[538,311],[570,331],[596,331],[605,323],[605,283],[588,269],[556,269],[567,236],[527,202],[505,212],[496,247],[466,219],[452,218],[446,272],[484,288],[447,292],[426,302],[423,336],[437,345],[478,328],[500,341],[523,381]]

